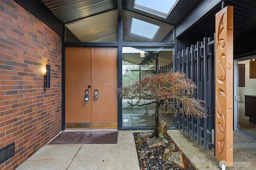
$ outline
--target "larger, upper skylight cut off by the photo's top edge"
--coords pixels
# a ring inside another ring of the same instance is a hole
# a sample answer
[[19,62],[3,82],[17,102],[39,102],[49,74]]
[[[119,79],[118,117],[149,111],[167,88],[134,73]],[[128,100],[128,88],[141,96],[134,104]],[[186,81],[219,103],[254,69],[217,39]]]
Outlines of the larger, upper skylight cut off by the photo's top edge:
[[134,0],[134,8],[155,16],[167,18],[177,2],[178,0]]

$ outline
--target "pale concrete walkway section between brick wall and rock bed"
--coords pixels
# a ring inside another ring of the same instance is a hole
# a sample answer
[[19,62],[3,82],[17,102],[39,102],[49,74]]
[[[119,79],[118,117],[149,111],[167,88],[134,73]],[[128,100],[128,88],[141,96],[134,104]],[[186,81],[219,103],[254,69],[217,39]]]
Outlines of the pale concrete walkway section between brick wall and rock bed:
[[132,131],[117,144],[45,145],[16,170],[140,170]]

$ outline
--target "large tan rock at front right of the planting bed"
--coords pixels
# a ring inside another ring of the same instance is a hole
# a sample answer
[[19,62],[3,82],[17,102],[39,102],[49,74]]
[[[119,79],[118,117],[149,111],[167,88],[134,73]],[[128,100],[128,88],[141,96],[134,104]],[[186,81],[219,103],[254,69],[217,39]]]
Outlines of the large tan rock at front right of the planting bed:
[[181,152],[166,152],[163,155],[163,159],[168,164],[177,165],[180,168],[185,167]]

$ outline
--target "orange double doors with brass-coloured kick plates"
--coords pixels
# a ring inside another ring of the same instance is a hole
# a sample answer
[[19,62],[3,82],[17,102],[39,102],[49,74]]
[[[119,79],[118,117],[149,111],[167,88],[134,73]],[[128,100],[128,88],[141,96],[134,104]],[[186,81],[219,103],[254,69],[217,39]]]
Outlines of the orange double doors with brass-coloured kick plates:
[[65,73],[66,129],[117,129],[117,49],[66,47]]

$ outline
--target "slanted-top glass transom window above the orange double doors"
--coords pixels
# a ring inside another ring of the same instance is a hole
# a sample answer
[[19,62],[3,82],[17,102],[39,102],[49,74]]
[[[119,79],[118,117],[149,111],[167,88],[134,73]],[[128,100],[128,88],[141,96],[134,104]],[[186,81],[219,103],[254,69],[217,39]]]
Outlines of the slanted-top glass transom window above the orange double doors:
[[66,42],[117,42],[117,10],[66,25]]

